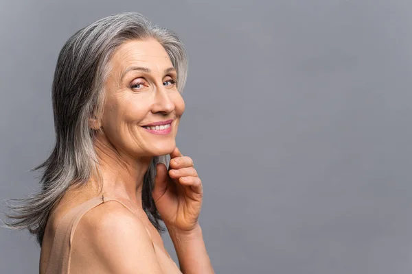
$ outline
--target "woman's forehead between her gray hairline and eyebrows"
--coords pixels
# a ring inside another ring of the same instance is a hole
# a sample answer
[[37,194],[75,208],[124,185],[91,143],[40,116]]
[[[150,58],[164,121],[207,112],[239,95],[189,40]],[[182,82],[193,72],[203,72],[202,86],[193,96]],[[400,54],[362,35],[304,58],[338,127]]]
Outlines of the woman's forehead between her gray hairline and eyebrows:
[[172,66],[168,53],[157,40],[124,42],[111,58],[112,72],[122,73],[130,65],[145,66],[152,71],[163,71]]

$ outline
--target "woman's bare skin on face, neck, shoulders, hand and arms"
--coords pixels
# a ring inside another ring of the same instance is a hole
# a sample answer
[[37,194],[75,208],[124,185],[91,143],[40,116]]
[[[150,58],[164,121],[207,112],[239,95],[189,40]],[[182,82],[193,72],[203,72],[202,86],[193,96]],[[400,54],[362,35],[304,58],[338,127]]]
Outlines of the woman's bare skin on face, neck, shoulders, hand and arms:
[[[170,154],[170,169],[157,165],[152,196],[170,234],[183,273],[214,273],[198,223],[203,199],[201,179],[192,158],[176,147],[185,103],[176,88],[176,71],[165,49],[153,39],[125,42],[110,60],[102,117],[90,119],[102,129],[95,149],[102,170],[102,192],[95,177],[81,188],[70,188],[49,218],[41,253],[47,264],[52,237],[60,217],[87,199],[119,197],[89,210],[73,235],[73,273],[169,273],[159,264],[153,244],[167,253],[157,229],[141,206],[144,174],[152,157]],[[130,70],[144,67],[148,71]],[[172,132],[155,135],[143,125],[173,119]],[[148,236],[146,229],[152,235]],[[121,260],[119,260],[121,258]]]

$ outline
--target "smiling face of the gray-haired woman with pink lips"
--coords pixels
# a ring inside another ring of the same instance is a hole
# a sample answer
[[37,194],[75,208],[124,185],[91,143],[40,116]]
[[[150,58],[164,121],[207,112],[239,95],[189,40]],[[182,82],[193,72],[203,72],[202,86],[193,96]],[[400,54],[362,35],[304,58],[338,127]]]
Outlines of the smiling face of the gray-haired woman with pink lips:
[[[101,126],[119,151],[132,157],[171,153],[185,103],[176,71],[157,40],[130,40],[111,58]],[[159,127],[145,127],[163,122]]]

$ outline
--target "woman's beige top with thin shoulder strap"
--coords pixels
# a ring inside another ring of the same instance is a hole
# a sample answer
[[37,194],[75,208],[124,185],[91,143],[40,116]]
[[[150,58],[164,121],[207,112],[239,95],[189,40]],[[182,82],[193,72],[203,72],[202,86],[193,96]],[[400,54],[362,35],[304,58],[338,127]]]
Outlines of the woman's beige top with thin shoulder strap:
[[[62,216],[58,223],[45,274],[70,273],[71,240],[76,230],[76,226],[86,212],[88,212],[92,208],[95,208],[96,206],[99,206],[102,203],[105,203],[106,201],[117,201],[121,203],[125,208],[130,210],[130,208],[122,203],[122,201],[119,201],[115,198],[104,197],[103,195],[102,197],[98,196],[89,199],[83,203],[80,203],[80,205],[76,206],[75,208],[69,210],[69,212]],[[146,229],[146,231],[148,232],[150,239],[152,239],[152,235],[150,234],[148,229]],[[153,240],[152,244],[163,273],[181,274],[180,269],[174,263],[172,258],[170,258],[169,254],[165,253],[165,251],[163,251],[161,247],[156,245]]]

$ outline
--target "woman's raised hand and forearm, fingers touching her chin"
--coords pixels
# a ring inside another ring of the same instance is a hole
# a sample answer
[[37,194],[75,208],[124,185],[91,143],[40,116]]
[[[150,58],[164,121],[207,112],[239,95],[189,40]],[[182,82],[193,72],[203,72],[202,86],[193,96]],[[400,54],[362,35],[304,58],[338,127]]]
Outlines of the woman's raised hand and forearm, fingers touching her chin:
[[177,147],[170,153],[170,169],[157,164],[152,197],[163,219],[179,258],[181,271],[214,273],[207,255],[198,217],[203,200],[202,181],[193,160]]

